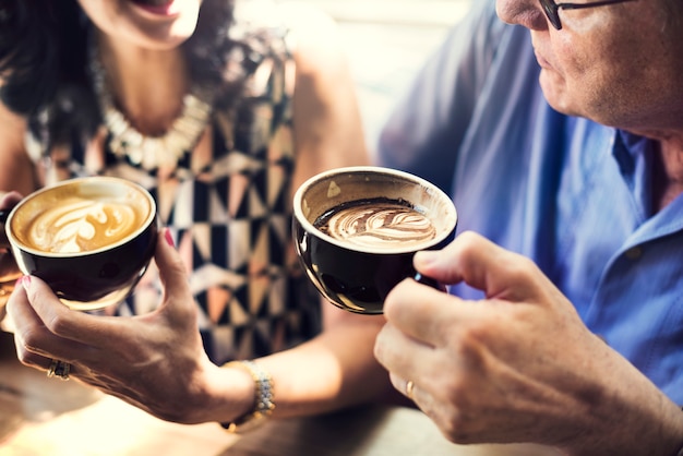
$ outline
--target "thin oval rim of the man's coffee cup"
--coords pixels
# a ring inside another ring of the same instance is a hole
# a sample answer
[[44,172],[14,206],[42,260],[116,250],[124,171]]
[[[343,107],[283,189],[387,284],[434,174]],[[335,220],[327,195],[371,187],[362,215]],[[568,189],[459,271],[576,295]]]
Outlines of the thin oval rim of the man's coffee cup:
[[[448,225],[448,228],[443,230],[439,236],[434,237],[434,239],[432,239],[431,241],[424,242],[423,244],[420,244],[417,247],[412,244],[412,245],[407,245],[403,249],[397,248],[397,249],[392,249],[392,250],[360,248],[357,245],[349,244],[348,242],[343,242],[329,235],[322,232],[321,230],[315,228],[313,224],[309,221],[309,219],[303,215],[302,204],[301,204],[303,200],[303,194],[305,193],[307,189],[316,181],[327,179],[336,175],[356,173],[356,172],[391,175],[400,179],[416,182],[419,185],[430,189],[430,191],[433,191],[434,193],[439,194],[440,199],[443,199],[444,201],[447,201],[451,203],[446,205],[448,207],[448,212],[453,213],[453,217],[452,217],[452,220],[450,220],[451,224]],[[453,233],[453,231],[455,230],[457,226],[457,219],[458,219],[457,209],[455,207],[455,204],[453,203],[453,200],[443,190],[436,187],[436,184],[426,179],[422,179],[419,176],[411,175],[406,171],[402,171],[402,170],[394,169],[394,168],[381,167],[381,166],[371,166],[371,165],[334,168],[334,169],[322,171],[320,173],[316,173],[315,176],[310,177],[301,185],[299,185],[299,188],[295,192],[292,213],[293,213],[293,217],[297,219],[297,221],[303,227],[303,229],[307,232],[314,235],[317,238],[324,239],[326,242],[329,242],[340,249],[350,250],[350,251],[359,252],[359,253],[368,253],[368,254],[373,254],[373,255],[396,255],[396,254],[414,253],[420,250],[430,249],[434,245],[439,245]]]

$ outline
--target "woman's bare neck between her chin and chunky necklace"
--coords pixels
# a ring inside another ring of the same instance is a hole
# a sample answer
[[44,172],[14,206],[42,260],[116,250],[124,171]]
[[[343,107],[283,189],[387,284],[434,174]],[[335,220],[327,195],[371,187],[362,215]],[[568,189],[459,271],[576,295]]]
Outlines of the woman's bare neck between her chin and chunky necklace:
[[182,51],[141,49],[106,38],[98,49],[115,104],[128,121],[143,134],[166,132],[189,92]]

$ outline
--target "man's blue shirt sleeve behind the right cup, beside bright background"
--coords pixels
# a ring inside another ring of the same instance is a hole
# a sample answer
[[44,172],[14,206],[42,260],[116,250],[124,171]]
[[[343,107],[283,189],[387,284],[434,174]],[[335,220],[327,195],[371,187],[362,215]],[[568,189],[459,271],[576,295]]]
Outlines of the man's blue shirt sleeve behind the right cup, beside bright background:
[[450,191],[488,69],[503,36],[494,1],[479,1],[419,72],[382,130],[381,166],[403,169]]

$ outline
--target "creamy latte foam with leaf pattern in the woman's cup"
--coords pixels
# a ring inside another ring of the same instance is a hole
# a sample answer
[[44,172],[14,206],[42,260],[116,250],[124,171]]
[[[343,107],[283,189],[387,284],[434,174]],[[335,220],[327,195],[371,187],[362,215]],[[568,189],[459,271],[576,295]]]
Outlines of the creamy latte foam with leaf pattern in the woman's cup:
[[46,252],[88,252],[118,242],[141,223],[142,216],[124,202],[70,196],[38,214],[27,239]]

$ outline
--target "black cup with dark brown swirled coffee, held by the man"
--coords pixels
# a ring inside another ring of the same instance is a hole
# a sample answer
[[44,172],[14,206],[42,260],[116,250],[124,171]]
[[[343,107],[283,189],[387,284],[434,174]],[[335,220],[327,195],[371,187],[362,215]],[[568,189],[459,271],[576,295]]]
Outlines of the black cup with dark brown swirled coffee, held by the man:
[[412,256],[445,247],[456,225],[448,195],[394,169],[333,169],[309,179],[293,197],[303,268],[329,302],[356,313],[382,313],[386,295],[407,277],[440,287],[417,274]]

